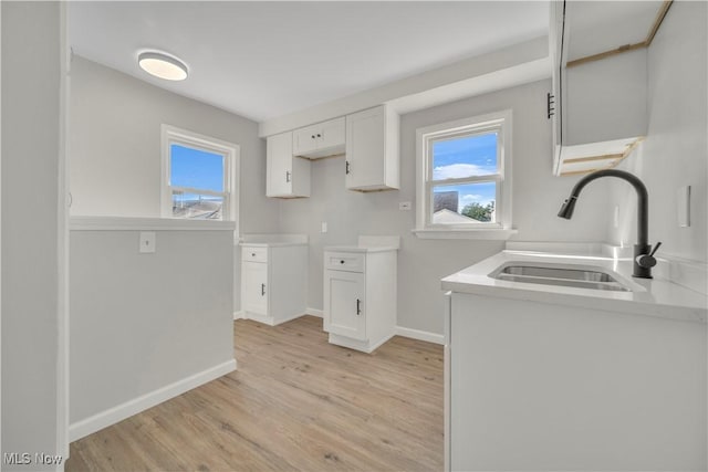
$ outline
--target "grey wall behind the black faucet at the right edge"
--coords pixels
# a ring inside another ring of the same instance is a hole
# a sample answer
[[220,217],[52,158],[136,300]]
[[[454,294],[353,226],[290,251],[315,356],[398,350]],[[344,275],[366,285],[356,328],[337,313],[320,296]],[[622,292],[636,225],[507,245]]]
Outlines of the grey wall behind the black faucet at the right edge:
[[[708,261],[708,140],[706,2],[674,2],[648,51],[648,132],[620,168],[644,181],[649,192],[649,242],[659,255]],[[691,186],[691,227],[676,220],[679,187]],[[636,196],[614,185],[612,204],[620,224],[607,239],[636,242]]]

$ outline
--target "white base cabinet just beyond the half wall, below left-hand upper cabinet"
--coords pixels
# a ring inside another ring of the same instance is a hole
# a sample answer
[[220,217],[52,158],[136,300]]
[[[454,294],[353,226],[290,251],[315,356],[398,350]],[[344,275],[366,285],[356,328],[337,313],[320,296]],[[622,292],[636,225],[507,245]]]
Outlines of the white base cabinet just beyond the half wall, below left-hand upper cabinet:
[[241,310],[244,318],[278,325],[305,313],[308,245],[241,245]]

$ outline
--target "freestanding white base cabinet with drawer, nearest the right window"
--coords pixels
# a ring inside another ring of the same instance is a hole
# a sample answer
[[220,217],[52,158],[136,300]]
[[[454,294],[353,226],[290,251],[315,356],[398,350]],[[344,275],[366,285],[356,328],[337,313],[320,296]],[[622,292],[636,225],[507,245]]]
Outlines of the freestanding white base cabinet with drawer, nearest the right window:
[[324,331],[330,343],[371,353],[395,334],[396,249],[324,253]]

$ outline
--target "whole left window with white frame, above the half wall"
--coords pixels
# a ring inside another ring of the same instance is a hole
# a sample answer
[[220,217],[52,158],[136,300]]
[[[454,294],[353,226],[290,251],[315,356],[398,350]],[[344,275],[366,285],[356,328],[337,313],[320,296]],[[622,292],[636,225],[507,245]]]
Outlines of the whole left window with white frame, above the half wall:
[[162,138],[163,217],[236,221],[239,146],[167,125]]

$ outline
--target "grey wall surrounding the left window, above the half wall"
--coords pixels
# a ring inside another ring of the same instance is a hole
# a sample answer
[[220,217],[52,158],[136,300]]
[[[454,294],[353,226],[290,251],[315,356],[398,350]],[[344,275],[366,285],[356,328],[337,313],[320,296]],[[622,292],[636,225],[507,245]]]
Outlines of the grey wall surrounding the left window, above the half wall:
[[[241,147],[239,229],[278,230],[278,202],[266,198],[266,143],[258,124],[164,91],[80,56],[72,61],[70,178],[74,216],[160,216],[160,125]],[[235,256],[235,286],[240,258]],[[240,310],[240,291],[233,291]]]

